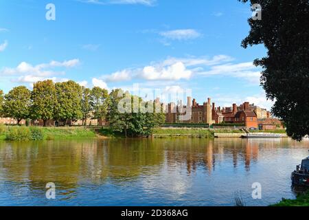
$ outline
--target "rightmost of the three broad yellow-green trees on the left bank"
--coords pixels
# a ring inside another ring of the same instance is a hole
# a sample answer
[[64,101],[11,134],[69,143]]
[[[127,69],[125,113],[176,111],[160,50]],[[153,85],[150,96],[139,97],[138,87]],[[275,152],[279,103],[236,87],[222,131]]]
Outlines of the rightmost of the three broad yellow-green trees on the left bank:
[[76,121],[82,118],[82,87],[72,80],[56,83],[56,115],[58,120],[67,124],[68,120]]

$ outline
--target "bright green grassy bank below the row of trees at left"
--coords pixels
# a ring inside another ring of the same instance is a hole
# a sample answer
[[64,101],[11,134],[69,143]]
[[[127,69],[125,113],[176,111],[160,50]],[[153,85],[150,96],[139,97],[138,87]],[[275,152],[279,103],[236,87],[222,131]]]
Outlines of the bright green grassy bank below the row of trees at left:
[[96,137],[91,129],[71,127],[1,126],[0,140],[60,140]]

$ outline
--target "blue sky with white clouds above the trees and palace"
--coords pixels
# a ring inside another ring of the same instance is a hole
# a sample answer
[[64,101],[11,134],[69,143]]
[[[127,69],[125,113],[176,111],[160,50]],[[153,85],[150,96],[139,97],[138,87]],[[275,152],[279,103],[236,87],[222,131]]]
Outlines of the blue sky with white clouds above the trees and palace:
[[253,66],[266,50],[240,46],[251,14],[237,0],[1,0],[0,89],[75,80],[270,109]]

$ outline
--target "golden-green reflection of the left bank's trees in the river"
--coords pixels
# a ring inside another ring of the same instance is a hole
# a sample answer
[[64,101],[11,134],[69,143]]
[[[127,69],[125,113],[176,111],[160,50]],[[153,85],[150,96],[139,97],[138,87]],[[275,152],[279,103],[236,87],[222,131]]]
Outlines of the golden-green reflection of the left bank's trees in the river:
[[47,182],[61,190],[124,181],[163,162],[161,148],[149,140],[2,142],[0,158],[3,178],[44,190]]

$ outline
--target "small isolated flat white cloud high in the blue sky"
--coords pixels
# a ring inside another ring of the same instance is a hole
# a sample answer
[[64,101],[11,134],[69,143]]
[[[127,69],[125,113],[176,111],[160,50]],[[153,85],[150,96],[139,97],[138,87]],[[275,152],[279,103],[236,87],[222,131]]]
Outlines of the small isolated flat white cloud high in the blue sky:
[[201,34],[194,29],[170,30],[166,32],[160,32],[159,34],[166,39],[178,41],[197,39],[201,36]]

